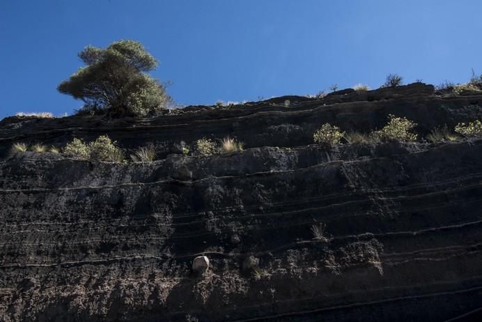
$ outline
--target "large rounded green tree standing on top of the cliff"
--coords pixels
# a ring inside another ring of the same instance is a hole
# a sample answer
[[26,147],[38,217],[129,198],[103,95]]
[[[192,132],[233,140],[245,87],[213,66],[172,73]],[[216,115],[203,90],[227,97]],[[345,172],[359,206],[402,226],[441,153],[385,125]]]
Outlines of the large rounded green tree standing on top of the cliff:
[[157,60],[137,41],[120,40],[106,49],[89,45],[79,58],[86,66],[57,90],[83,100],[83,112],[153,116],[171,100],[164,85],[146,73],[157,67]]

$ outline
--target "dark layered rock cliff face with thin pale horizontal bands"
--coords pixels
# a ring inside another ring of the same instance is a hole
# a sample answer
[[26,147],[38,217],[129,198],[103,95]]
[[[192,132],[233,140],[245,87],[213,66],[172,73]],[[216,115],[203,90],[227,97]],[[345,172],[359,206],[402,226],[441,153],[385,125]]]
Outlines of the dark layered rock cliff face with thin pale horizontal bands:
[[[482,95],[413,84],[149,120],[4,119],[0,320],[476,319],[482,139],[312,144],[322,123],[368,131],[388,114],[423,135],[481,118]],[[153,142],[160,160],[8,155],[13,142],[104,134],[126,149]],[[176,150],[227,135],[246,149]],[[210,261],[204,275],[192,271],[196,256]]]

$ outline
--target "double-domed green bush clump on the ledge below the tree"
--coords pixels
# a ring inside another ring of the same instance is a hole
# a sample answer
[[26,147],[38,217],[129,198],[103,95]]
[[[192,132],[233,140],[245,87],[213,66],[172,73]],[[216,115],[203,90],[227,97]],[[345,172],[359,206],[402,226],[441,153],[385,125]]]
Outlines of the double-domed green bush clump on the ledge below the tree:
[[107,135],[102,135],[89,144],[75,138],[63,148],[63,154],[85,160],[106,162],[123,162],[124,160],[123,151]]

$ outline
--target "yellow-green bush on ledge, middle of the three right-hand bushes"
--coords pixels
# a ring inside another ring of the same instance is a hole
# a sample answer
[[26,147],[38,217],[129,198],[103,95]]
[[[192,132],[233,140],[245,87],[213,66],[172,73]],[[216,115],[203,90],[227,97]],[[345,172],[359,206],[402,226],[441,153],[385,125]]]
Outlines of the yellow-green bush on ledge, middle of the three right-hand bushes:
[[417,139],[417,135],[411,132],[417,126],[417,123],[405,117],[396,117],[393,114],[389,114],[388,117],[387,125],[382,130],[373,132],[374,135],[380,137],[382,141],[411,142]]

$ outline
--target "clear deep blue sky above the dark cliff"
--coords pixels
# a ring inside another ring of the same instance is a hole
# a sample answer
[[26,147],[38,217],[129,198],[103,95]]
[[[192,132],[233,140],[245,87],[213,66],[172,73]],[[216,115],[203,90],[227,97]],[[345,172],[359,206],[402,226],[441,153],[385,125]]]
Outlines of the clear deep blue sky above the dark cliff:
[[0,118],[72,113],[56,86],[86,45],[139,40],[180,104],[466,82],[482,73],[480,0],[1,0]]

